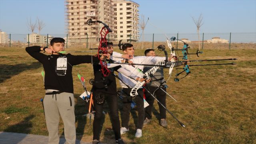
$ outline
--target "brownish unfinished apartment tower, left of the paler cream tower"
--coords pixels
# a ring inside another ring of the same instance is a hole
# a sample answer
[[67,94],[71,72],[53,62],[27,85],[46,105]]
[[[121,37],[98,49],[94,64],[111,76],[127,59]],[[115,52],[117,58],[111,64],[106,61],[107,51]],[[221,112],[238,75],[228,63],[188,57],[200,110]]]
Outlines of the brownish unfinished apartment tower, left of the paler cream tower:
[[[114,28],[114,5],[112,0],[66,0],[66,26],[71,42],[98,42],[102,24],[86,24],[88,19],[100,20]],[[114,33],[107,37],[114,40]]]

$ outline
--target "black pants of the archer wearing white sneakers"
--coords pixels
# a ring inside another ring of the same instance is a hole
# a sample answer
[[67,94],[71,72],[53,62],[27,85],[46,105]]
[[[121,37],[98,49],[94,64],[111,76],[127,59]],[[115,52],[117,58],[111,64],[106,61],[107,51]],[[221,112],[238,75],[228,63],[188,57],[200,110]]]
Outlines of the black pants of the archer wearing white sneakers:
[[[130,96],[131,90],[129,88],[123,88],[122,94],[124,96]],[[137,128],[142,129],[143,122],[144,122],[144,101],[143,101],[143,90],[142,88],[137,90],[138,96],[133,98],[134,102],[136,103],[138,109],[138,124]],[[123,98],[123,113],[121,115],[122,118],[122,127],[129,128],[129,120],[130,120],[130,110],[131,110],[131,103],[132,98]],[[136,128],[136,129],[137,129]]]

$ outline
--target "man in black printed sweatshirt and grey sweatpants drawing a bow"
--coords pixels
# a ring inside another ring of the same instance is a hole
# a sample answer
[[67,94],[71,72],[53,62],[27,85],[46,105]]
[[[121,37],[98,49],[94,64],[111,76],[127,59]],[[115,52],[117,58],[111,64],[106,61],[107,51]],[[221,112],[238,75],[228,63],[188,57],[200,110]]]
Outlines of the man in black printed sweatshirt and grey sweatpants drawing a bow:
[[[65,40],[53,38],[49,48],[30,46],[26,52],[43,64],[45,71],[44,112],[46,126],[49,132],[49,144],[58,144],[58,124],[60,116],[64,122],[64,134],[66,144],[75,144],[76,127],[74,114],[74,90],[72,78],[72,66],[82,63],[99,62],[96,56],[74,56],[60,54],[64,51]],[[51,55],[41,53],[44,51]],[[104,56],[101,57],[103,59]]]

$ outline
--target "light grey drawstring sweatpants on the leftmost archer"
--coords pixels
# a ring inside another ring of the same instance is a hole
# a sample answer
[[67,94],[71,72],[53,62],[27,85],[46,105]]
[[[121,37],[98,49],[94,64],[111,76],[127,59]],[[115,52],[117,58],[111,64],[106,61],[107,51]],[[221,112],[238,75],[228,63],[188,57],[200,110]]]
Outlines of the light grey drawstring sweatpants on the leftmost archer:
[[[52,92],[48,91],[47,92]],[[74,113],[74,94],[63,92],[44,96],[44,112],[49,132],[48,144],[59,144],[58,126],[60,116],[64,122],[66,144],[75,144],[76,126]]]

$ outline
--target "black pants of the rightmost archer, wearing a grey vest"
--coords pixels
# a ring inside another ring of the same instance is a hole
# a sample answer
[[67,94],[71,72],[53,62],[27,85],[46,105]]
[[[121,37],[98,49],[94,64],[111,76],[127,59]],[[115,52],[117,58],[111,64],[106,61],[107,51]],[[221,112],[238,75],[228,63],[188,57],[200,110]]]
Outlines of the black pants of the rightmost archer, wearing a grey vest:
[[[166,88],[162,88],[165,92],[156,86],[146,85],[145,88],[151,94],[154,93],[154,96],[159,100],[159,102],[161,102],[166,107],[166,93],[165,93]],[[149,94],[146,90],[145,90],[144,94],[146,97],[146,101],[149,104],[149,106],[147,106],[145,108],[145,118],[151,119],[152,118],[152,109],[153,109],[153,104],[154,104],[155,98],[153,98],[153,96],[151,96],[151,94]],[[159,102],[158,102],[158,106],[159,106],[159,111],[160,111],[160,118],[166,119],[166,109],[161,104],[159,104]]]

